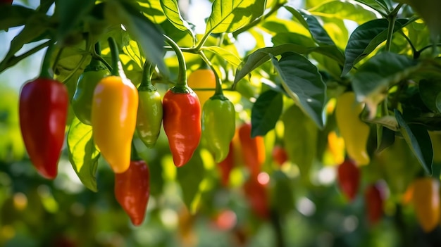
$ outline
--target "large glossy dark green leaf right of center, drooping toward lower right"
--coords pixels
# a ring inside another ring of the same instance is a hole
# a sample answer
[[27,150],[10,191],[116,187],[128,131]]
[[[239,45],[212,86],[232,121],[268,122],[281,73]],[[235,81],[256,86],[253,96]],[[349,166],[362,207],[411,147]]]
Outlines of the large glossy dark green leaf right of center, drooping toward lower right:
[[282,77],[287,94],[299,104],[319,128],[323,128],[326,84],[318,69],[299,53],[282,54],[279,61],[272,56],[275,69]]

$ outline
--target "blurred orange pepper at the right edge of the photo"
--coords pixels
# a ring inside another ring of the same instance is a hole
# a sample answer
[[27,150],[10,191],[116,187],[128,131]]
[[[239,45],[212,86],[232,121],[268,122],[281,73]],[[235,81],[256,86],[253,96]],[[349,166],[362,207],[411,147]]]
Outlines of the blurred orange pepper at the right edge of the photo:
[[416,218],[424,232],[432,232],[440,224],[440,184],[430,177],[413,182],[412,202]]

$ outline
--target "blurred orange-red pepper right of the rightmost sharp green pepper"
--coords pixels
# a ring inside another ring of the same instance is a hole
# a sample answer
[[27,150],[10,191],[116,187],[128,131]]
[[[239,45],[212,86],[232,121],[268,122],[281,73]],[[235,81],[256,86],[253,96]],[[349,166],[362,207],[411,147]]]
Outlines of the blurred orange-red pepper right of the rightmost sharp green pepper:
[[238,134],[244,163],[251,172],[251,176],[255,177],[261,172],[261,166],[266,158],[263,137],[251,138],[250,122],[240,125]]

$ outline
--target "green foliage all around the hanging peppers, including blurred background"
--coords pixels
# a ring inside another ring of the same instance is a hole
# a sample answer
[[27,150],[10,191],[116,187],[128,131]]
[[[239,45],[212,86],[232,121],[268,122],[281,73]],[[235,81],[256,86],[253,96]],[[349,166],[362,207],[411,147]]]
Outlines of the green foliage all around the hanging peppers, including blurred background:
[[[251,136],[264,137],[259,182],[269,179],[261,183],[271,208],[268,219],[249,210],[243,188],[249,170],[240,155],[225,187],[204,141],[185,167],[176,168],[163,131],[154,148],[135,134],[150,170],[147,217],[135,228],[114,198],[113,172],[94,146],[92,127],[70,111],[60,173],[46,181],[25,156],[18,96],[1,89],[0,245],[215,246],[213,239],[219,239],[216,246],[440,245],[440,227],[424,232],[414,207],[403,202],[417,177],[440,176],[441,15],[433,11],[439,4],[303,2],[214,0],[202,33],[175,0],[0,6],[0,31],[21,28],[8,41],[0,73],[56,42],[52,68],[70,99],[91,58],[111,63],[108,37],[116,40],[136,87],[144,63],[156,65],[151,82],[161,96],[182,79],[182,57],[169,39],[184,53],[186,75],[201,62],[210,65],[235,104],[236,126],[251,121]],[[97,42],[102,55],[94,50]],[[328,141],[330,133],[339,133],[334,107],[345,91],[364,103],[356,117],[370,127],[371,162],[360,167],[359,195],[352,202],[335,185],[335,160],[341,158]],[[271,158],[275,145],[287,150],[283,165]],[[240,154],[235,139],[230,146]],[[387,196],[383,220],[375,225],[366,219],[362,193],[370,184],[380,184]],[[231,227],[221,228],[216,222],[225,210],[235,217]]]

